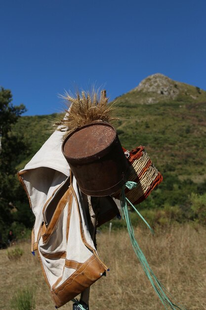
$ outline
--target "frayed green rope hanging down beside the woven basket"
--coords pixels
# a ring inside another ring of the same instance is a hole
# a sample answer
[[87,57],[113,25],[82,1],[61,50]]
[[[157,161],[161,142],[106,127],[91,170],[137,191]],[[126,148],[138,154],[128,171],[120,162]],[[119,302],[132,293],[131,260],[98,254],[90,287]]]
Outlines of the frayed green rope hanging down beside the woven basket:
[[[134,252],[137,256],[137,258],[139,259],[142,268],[146,274],[146,276],[148,277],[148,279],[150,280],[156,294],[158,295],[158,297],[160,298],[161,302],[163,303],[165,309],[168,309],[167,306],[169,307],[169,309],[172,310],[185,310],[185,308],[179,308],[178,306],[176,306],[175,304],[173,304],[169,298],[166,296],[165,292],[166,289],[165,287],[162,285],[162,283],[156,278],[154,272],[152,271],[152,269],[150,268],[147,259],[145,258],[142,250],[140,249],[135,237],[134,237],[134,230],[133,230],[133,226],[131,224],[131,220],[129,217],[129,212],[128,212],[128,207],[127,207],[127,202],[134,208],[134,210],[137,212],[137,214],[141,217],[141,219],[146,223],[146,225],[149,227],[149,229],[152,231],[153,233],[153,229],[150,227],[150,225],[147,223],[147,221],[144,219],[144,217],[139,213],[139,211],[131,204],[131,202],[125,197],[125,187],[127,187],[128,189],[132,189],[134,187],[136,187],[136,183],[135,182],[131,182],[128,181],[125,183],[123,189],[122,189],[122,197],[121,197],[121,208],[122,208],[122,214],[123,214],[123,218],[125,218],[126,220],[126,225],[127,225],[127,230],[129,233],[129,237],[131,240],[131,244],[132,247],[134,249]],[[167,292],[168,293],[168,292]],[[170,296],[171,294],[168,293]],[[173,298],[171,296],[171,298]],[[174,298],[173,298],[174,299]]]

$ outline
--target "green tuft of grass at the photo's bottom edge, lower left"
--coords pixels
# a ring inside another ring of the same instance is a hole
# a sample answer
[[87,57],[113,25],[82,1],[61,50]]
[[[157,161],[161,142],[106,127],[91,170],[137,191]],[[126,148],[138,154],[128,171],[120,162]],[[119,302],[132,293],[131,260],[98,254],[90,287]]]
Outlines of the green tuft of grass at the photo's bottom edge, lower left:
[[19,290],[11,299],[12,310],[35,310],[35,304],[34,291],[29,288]]

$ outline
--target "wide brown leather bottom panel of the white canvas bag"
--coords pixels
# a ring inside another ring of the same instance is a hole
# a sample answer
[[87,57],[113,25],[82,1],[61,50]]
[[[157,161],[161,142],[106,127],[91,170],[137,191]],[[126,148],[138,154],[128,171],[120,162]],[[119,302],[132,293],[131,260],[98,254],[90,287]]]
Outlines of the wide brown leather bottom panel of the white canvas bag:
[[56,307],[61,307],[82,293],[87,287],[98,280],[106,271],[95,254],[81,266],[59,287],[51,290]]

